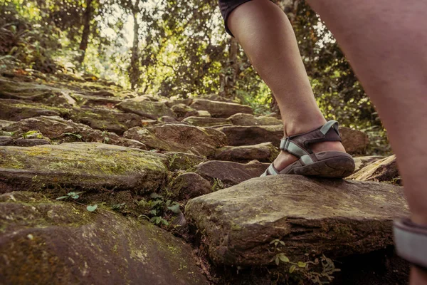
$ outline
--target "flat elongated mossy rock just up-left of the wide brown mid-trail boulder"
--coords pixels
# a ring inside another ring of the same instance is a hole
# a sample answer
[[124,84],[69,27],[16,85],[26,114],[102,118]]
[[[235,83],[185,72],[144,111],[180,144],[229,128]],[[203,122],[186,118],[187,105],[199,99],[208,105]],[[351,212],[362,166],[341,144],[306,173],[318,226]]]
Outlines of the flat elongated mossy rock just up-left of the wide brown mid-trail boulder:
[[107,130],[122,135],[125,130],[142,126],[139,115],[119,113],[104,108],[73,108],[68,116],[76,123],[83,123],[90,128]]

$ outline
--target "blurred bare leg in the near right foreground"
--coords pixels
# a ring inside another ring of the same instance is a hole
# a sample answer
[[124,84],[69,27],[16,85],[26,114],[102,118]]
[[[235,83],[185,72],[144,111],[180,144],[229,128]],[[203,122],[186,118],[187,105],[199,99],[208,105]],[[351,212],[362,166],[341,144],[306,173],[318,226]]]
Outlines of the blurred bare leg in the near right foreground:
[[[396,152],[411,219],[427,225],[427,1],[308,2],[376,105]],[[427,284],[427,274],[411,275],[411,284]]]

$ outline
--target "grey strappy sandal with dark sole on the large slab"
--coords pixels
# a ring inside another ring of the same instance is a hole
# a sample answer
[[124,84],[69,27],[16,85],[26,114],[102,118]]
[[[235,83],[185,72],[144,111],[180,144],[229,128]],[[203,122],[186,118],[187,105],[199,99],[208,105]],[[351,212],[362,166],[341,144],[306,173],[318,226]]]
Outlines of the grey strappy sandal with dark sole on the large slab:
[[338,131],[338,122],[330,120],[322,127],[308,133],[292,135],[280,140],[280,150],[290,152],[299,158],[285,169],[277,170],[273,163],[261,175],[296,174],[317,177],[343,178],[354,172],[352,155],[340,151],[323,151],[314,153],[310,148],[311,143],[341,141]]

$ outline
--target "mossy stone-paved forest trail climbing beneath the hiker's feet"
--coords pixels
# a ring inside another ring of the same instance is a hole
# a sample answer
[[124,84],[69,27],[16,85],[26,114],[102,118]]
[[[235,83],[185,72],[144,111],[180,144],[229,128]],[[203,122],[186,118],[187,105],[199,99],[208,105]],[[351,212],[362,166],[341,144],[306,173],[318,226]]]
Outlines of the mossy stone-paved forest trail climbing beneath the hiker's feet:
[[95,79],[0,76],[0,284],[406,284],[366,134],[340,127],[347,180],[259,177],[274,115]]

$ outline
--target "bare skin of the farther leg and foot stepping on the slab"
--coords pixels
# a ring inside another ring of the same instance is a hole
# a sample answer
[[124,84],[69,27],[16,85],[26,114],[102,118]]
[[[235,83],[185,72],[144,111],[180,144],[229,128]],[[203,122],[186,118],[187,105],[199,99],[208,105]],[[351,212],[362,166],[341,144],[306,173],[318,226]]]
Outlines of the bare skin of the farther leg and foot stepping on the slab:
[[[305,133],[325,124],[285,13],[269,0],[253,0],[238,6],[227,24],[255,70],[273,91],[285,135]],[[345,151],[340,142],[320,142],[312,149]],[[281,152],[274,165],[282,170],[296,160],[290,153]]]

